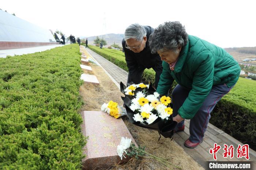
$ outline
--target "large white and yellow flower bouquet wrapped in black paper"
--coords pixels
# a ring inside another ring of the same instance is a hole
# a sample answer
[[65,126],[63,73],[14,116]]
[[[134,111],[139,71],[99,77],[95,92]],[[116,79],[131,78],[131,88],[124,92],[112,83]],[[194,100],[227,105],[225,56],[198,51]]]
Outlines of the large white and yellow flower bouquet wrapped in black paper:
[[160,137],[173,136],[173,130],[177,125],[173,121],[173,109],[170,97],[162,96],[155,91],[150,82],[140,84],[128,83],[126,87],[120,82],[120,90],[127,111],[129,122],[140,127],[157,130]]

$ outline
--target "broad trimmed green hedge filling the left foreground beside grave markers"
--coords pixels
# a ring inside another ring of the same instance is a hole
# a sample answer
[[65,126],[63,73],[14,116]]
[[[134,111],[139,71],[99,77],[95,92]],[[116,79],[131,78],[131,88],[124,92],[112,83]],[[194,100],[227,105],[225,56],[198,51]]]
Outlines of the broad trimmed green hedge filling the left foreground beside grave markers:
[[0,58],[0,169],[80,169],[79,46]]

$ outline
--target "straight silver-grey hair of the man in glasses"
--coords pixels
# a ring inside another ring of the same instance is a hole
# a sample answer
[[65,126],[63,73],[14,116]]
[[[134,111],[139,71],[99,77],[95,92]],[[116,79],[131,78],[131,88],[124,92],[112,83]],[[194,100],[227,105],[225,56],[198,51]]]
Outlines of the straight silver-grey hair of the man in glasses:
[[124,40],[126,41],[129,38],[134,38],[137,41],[141,41],[144,36],[147,35],[146,28],[140,24],[131,24],[129,25],[124,32]]

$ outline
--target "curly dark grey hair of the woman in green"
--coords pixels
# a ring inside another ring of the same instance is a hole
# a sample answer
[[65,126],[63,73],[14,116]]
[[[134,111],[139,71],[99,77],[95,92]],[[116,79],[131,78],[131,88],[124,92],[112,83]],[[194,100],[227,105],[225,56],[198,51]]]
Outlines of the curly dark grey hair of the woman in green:
[[180,22],[165,22],[155,28],[148,41],[151,53],[162,50],[176,52],[178,46],[184,47],[187,45],[188,34]]

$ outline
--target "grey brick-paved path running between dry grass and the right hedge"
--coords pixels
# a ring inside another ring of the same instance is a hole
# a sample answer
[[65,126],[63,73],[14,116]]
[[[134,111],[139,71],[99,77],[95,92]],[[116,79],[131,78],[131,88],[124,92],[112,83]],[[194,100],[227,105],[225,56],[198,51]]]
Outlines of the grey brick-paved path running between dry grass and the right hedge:
[[[98,61],[98,63],[112,76],[113,81],[117,81],[118,84],[120,81],[126,82],[128,73],[123,69],[120,69],[118,66],[114,65],[112,62],[108,61],[107,59],[101,57],[94,51],[87,49],[87,52],[91,54],[91,56]],[[184,132],[177,132],[174,134],[173,139],[176,143],[178,143],[184,150],[201,166],[207,169],[207,162],[206,161],[214,161],[213,155],[209,153],[210,148],[214,147],[214,143],[217,143],[221,146],[221,149],[217,152],[217,161],[247,161],[244,157],[243,158],[236,158],[237,152],[236,149],[238,144],[241,146],[243,145],[238,140],[234,139],[230,135],[226,134],[219,128],[215,127],[212,124],[208,124],[207,131],[205,132],[204,141],[194,149],[189,149],[184,146],[185,140],[189,137],[189,121],[185,120],[185,130]],[[224,145],[227,144],[230,146],[231,144],[234,146],[234,158],[223,158],[223,148]],[[254,166],[256,167],[256,152],[252,149],[249,149],[249,161],[254,161]]]

